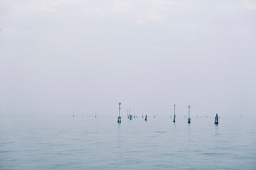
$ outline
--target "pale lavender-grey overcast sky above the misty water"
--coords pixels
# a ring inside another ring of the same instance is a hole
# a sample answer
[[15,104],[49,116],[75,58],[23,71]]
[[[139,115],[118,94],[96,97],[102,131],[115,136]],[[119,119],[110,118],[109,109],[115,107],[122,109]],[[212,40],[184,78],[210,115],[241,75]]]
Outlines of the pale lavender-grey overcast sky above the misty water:
[[255,115],[256,1],[0,1],[0,115]]

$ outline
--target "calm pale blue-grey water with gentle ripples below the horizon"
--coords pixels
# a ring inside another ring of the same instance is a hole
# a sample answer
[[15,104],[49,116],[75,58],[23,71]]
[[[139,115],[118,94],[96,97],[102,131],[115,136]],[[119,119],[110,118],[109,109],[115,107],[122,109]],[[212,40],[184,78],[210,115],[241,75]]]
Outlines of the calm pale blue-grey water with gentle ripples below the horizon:
[[1,117],[0,169],[256,169],[250,118]]

